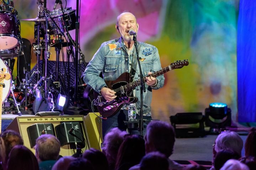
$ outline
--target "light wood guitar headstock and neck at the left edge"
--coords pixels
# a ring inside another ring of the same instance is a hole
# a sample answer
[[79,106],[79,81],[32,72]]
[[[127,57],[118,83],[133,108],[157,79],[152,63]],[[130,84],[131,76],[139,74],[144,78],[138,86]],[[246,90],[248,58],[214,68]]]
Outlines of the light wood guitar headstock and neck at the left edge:
[[[2,129],[2,91],[5,87],[4,80],[9,80],[11,78],[10,73],[5,73],[6,68],[0,69],[0,133]],[[9,89],[8,89],[9,90]]]

